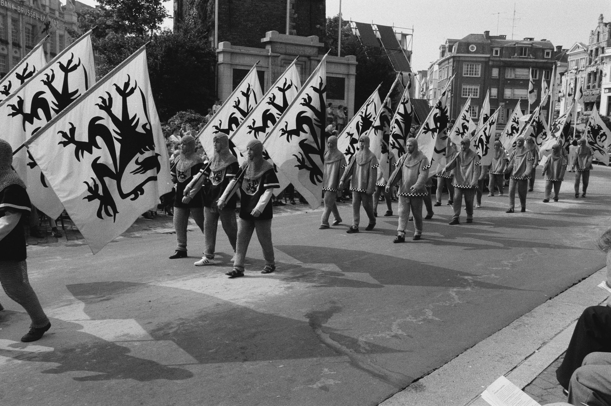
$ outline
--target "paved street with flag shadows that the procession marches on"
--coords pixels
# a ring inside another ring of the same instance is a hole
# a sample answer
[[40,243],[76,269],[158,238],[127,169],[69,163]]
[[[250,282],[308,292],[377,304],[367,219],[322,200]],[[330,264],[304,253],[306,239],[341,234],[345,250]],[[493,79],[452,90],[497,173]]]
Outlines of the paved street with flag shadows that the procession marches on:
[[349,235],[347,204],[324,231],[319,210],[284,210],[277,272],[259,273],[253,237],[238,279],[223,275],[221,227],[213,267],[192,265],[199,230],[189,258],[169,260],[175,235],[143,221],[95,256],[78,238],[31,245],[53,327],[19,342],[29,319],[0,295],[0,404],[379,404],[605,265],[595,241],[611,224],[611,171],[596,167],[586,199],[566,179],[560,202],[543,203],[539,171],[527,213],[484,196],[474,224],[449,226],[444,196],[423,239],[398,245],[397,216]]

